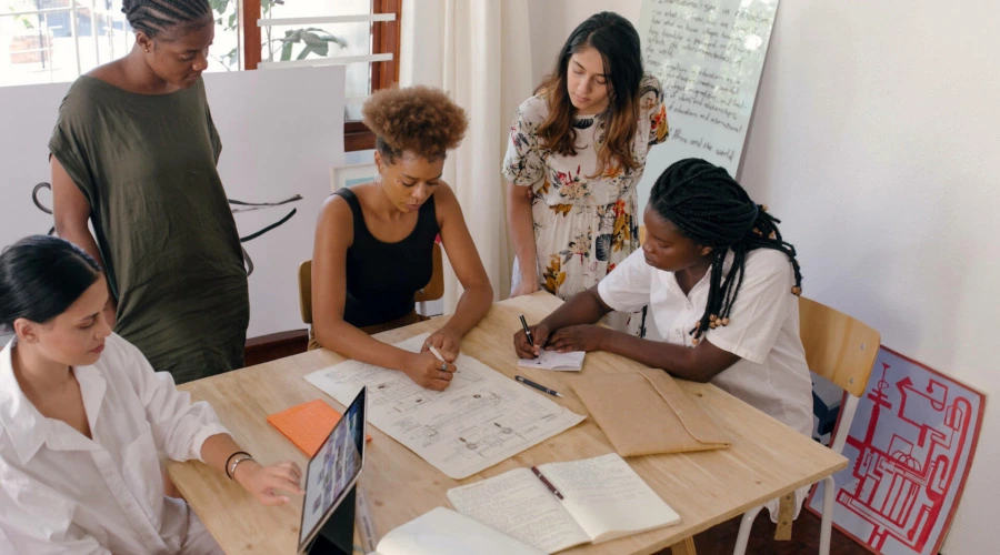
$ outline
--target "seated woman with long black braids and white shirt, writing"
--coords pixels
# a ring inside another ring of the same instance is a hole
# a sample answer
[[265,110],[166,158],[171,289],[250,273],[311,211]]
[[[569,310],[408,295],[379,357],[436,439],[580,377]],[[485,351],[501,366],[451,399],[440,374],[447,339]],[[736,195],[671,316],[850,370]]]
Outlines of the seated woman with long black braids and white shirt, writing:
[[[779,220],[724,169],[688,159],[668,168],[643,215],[647,239],[596,286],[514,335],[521,359],[546,345],[608,351],[709,382],[803,435],[812,382],[799,339],[802,274]],[[662,341],[591,325],[611,310],[649,306]],[[798,508],[808,487],[798,492]],[[777,504],[772,518],[777,515]]]

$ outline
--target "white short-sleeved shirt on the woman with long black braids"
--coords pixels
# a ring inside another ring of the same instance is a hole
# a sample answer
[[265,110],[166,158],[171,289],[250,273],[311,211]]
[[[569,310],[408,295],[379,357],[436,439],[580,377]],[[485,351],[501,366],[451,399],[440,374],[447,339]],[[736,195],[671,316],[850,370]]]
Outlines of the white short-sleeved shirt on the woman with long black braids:
[[[732,265],[730,251],[723,273]],[[714,385],[770,414],[788,426],[812,433],[812,379],[799,339],[799,297],[791,293],[794,274],[783,253],[757,249],[747,254],[743,283],[729,325],[704,337],[740,357],[711,380]],[[608,306],[636,312],[649,305],[663,341],[692,346],[688,332],[701,320],[708,302],[710,272],[686,295],[673,272],[646,263],[632,253],[598,284]]]

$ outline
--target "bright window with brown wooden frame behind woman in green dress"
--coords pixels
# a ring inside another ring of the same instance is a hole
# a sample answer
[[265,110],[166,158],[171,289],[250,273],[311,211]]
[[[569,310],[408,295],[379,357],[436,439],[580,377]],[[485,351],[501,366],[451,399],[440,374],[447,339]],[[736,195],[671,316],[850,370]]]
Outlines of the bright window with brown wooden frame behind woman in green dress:
[[[374,137],[358,121],[360,105],[399,81],[401,2],[242,0],[241,8],[240,0],[209,0],[216,39],[208,71],[348,61],[344,148],[372,149]],[[0,87],[73,81],[133,43],[121,0],[0,0]],[[369,61],[372,56],[380,61]]]

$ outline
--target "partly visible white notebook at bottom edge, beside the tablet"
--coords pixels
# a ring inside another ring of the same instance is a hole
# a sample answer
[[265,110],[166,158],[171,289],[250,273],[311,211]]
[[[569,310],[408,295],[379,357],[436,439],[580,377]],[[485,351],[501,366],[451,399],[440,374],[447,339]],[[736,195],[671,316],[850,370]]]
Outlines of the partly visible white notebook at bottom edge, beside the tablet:
[[371,555],[543,555],[450,508],[437,507],[394,528]]

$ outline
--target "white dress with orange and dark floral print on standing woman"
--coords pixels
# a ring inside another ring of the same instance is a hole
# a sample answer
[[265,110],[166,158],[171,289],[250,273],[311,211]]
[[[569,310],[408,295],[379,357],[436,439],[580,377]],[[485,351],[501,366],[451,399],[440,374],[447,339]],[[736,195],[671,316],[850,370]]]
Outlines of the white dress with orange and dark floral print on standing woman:
[[[518,108],[503,160],[503,176],[530,186],[538,252],[539,285],[560,299],[597,284],[617,264],[639,249],[636,185],[642,178],[649,148],[667,139],[667,109],[659,81],[640,83],[639,129],[632,154],[639,168],[609,169],[593,176],[598,150],[607,133],[606,114],[578,115],[577,154],[564,157],[539,144],[538,128],[549,114],[544,94]],[[514,280],[518,279],[517,262]],[[514,284],[517,285],[517,284]],[[612,319],[623,330],[628,315]],[[629,329],[638,329],[632,319]]]

